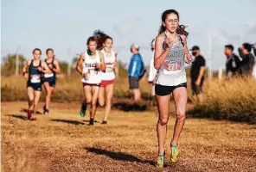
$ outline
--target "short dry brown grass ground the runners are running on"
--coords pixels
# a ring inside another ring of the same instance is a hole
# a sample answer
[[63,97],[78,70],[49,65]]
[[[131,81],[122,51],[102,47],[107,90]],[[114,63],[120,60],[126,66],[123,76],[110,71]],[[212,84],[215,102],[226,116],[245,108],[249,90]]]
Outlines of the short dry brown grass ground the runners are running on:
[[[40,105],[42,107],[42,104]],[[53,103],[49,116],[26,120],[26,102],[3,102],[2,171],[161,171],[157,157],[157,113],[114,110],[109,125],[87,126],[79,104]],[[172,109],[173,111],[173,109]],[[97,112],[101,120],[102,109]],[[170,118],[168,141],[174,125]],[[255,171],[256,126],[187,119],[181,157],[165,171]],[[166,162],[170,162],[167,149]]]

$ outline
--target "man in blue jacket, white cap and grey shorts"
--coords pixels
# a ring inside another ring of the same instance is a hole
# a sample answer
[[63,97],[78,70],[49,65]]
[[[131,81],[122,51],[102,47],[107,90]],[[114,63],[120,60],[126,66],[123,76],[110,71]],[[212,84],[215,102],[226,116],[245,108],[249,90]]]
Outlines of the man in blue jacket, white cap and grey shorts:
[[128,74],[129,74],[129,85],[132,90],[134,101],[141,100],[141,93],[138,87],[138,80],[143,68],[143,60],[139,53],[139,46],[136,44],[131,45],[131,62],[129,64]]

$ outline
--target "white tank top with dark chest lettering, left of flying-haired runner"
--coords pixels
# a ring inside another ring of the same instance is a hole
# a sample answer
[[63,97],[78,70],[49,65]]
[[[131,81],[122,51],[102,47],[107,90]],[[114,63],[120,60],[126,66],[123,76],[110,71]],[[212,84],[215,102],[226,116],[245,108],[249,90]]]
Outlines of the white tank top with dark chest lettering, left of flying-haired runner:
[[85,59],[82,64],[83,73],[88,73],[88,79],[82,77],[82,83],[93,83],[98,84],[101,83],[100,71],[96,69],[96,64],[100,64],[99,52],[96,51],[94,57],[91,57],[85,52]]

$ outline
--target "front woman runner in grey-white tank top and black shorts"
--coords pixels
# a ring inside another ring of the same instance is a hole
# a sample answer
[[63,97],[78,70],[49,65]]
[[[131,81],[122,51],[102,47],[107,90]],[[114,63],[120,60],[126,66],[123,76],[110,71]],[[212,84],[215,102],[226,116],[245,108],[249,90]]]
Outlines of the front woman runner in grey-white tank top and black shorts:
[[156,81],[156,98],[158,107],[157,138],[158,157],[157,167],[163,167],[164,142],[167,132],[167,123],[170,114],[170,95],[173,94],[176,107],[176,124],[173,138],[170,143],[170,161],[177,162],[178,139],[185,122],[187,106],[187,78],[184,61],[190,63],[192,57],[187,47],[188,33],[179,26],[179,14],[174,9],[163,12],[162,26],[156,38],[154,65],[158,70]]

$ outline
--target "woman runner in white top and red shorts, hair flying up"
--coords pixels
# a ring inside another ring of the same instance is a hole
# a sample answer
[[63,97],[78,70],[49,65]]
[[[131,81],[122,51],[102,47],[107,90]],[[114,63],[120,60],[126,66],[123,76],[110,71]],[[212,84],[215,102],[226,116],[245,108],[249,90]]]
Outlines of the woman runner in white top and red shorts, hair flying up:
[[113,40],[110,36],[100,31],[95,31],[94,36],[98,40],[98,46],[104,55],[104,61],[106,65],[106,72],[101,72],[99,106],[103,107],[106,102],[105,115],[101,124],[107,124],[106,120],[112,106],[115,73],[118,72],[118,69],[116,67],[117,52],[112,51]]

